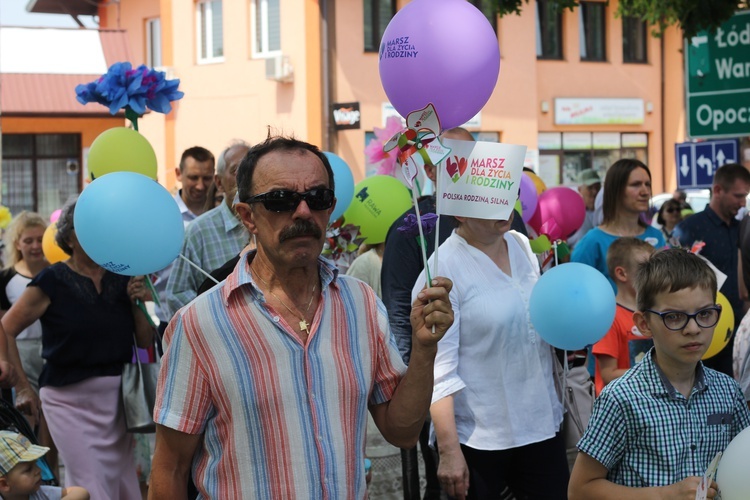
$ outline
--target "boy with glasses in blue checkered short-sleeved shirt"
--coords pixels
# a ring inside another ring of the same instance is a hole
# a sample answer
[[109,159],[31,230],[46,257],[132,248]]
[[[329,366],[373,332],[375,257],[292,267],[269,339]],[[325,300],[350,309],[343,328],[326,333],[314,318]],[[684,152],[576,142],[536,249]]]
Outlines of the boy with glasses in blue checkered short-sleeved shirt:
[[694,499],[716,454],[750,425],[737,382],[701,363],[721,312],[708,265],[682,249],[656,252],[638,268],[636,301],[633,319],[654,347],[596,400],[571,499]]

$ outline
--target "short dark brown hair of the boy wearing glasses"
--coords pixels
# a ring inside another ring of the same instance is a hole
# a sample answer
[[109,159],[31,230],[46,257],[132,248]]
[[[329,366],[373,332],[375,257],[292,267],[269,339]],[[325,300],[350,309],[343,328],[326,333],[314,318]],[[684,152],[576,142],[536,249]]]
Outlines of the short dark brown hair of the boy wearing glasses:
[[716,302],[716,274],[703,259],[686,250],[659,250],[638,266],[635,292],[639,311],[654,307],[656,296],[662,292],[688,288],[708,290]]

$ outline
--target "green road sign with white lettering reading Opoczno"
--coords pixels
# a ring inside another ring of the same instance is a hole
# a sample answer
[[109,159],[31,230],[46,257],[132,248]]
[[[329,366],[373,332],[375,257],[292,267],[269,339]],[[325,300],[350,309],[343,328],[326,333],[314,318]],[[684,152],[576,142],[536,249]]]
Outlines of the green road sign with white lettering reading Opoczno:
[[688,136],[750,135],[750,11],[685,41]]

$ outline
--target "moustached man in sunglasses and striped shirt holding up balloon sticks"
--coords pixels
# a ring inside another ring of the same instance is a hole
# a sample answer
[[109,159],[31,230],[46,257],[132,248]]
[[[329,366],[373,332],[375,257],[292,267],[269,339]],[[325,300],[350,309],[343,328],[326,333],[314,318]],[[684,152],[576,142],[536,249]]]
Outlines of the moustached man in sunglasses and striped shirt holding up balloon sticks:
[[365,498],[365,412],[414,446],[451,283],[415,301],[407,370],[372,289],[320,258],[335,204],[325,155],[269,138],[237,181],[257,250],[167,329],[150,498],[185,498],[191,467],[202,498]]

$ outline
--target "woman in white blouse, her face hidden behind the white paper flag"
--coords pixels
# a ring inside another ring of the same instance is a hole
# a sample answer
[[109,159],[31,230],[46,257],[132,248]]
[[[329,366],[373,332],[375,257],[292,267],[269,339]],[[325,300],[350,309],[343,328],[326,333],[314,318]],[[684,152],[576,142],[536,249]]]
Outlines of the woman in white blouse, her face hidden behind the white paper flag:
[[[565,499],[552,347],[529,320],[539,263],[511,221],[456,217],[440,246],[453,280],[453,326],[438,343],[430,415],[438,479],[455,498]],[[429,266],[432,266],[430,259]],[[415,296],[425,273],[415,284]]]

